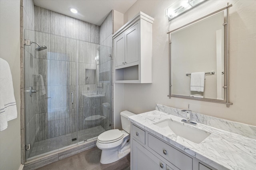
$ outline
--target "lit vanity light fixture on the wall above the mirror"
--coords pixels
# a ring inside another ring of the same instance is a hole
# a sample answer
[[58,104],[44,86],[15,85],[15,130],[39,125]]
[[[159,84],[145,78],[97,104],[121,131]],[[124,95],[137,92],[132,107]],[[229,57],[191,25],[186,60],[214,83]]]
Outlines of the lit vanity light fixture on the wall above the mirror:
[[174,4],[172,4],[169,8],[166,9],[166,16],[169,18],[169,21],[173,18],[179,16],[180,14],[183,14],[184,12],[187,12],[194,6],[197,6],[199,4],[202,4],[202,2],[205,2],[206,0],[181,0],[177,1]]

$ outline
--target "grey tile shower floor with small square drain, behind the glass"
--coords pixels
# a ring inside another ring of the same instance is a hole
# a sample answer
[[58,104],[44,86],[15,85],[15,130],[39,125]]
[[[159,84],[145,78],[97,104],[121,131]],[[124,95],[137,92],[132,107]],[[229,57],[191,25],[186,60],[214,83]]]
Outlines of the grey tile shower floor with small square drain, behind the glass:
[[[85,139],[98,137],[98,135],[100,135],[104,131],[105,129],[102,126],[96,126],[96,127],[78,131],[78,140],[79,142],[81,142],[81,141],[84,141]],[[74,138],[77,138],[76,132],[46,139],[39,142],[35,142],[32,148],[31,154],[29,155],[29,158],[40,155],[40,154],[44,154],[46,152],[50,152],[52,150],[60,149],[68,145],[75,144],[77,143],[77,140],[72,141],[72,139]]]

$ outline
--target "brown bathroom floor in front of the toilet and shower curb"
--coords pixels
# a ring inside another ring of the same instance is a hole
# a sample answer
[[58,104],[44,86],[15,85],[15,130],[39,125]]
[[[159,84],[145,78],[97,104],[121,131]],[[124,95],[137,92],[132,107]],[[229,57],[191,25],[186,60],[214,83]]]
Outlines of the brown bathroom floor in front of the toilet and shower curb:
[[130,170],[130,154],[111,164],[101,164],[100,154],[101,150],[94,147],[38,170]]

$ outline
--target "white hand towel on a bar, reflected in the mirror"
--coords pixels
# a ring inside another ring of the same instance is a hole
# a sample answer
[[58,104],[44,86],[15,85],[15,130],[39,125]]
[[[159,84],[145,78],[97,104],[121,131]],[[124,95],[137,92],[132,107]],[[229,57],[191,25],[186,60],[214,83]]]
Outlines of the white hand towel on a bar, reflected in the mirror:
[[192,72],[190,79],[190,91],[204,92],[205,72]]

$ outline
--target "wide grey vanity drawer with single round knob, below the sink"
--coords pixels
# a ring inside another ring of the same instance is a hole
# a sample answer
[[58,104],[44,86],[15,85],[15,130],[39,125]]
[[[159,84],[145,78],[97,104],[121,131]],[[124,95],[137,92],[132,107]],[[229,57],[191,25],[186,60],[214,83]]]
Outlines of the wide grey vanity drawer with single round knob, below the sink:
[[180,170],[192,170],[192,158],[150,134],[148,134],[148,147],[174,164]]

